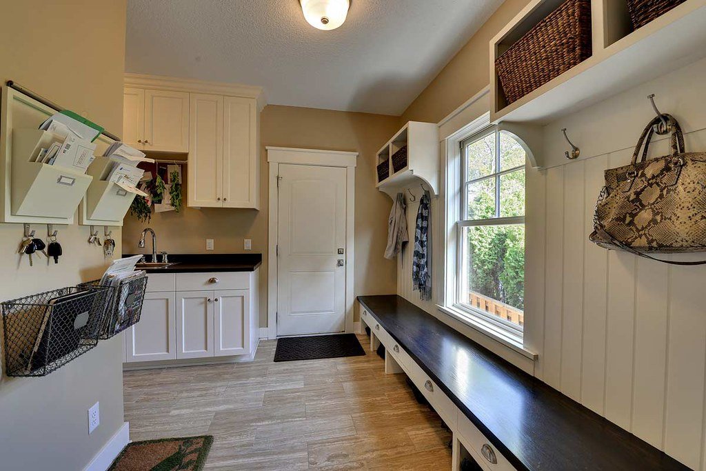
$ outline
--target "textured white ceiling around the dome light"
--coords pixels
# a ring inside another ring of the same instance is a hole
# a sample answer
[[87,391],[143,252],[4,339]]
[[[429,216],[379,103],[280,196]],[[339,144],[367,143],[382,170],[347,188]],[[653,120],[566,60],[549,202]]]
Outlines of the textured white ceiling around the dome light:
[[268,103],[399,115],[503,0],[129,0],[126,71],[260,85]]

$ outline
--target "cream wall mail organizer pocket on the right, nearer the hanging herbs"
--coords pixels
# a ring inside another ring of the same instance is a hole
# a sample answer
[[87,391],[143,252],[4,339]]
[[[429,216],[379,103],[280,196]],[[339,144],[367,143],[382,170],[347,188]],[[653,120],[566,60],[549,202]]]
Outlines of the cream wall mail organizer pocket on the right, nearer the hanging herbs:
[[114,162],[108,157],[95,157],[88,174],[93,181],[85,199],[86,217],[90,220],[121,221],[135,199],[135,193],[107,181]]

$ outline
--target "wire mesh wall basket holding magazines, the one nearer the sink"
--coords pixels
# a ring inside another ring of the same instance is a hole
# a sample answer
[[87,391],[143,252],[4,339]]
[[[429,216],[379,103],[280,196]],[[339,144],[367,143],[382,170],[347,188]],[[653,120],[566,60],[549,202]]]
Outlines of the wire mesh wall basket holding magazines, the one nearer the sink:
[[121,280],[117,286],[100,286],[100,280],[78,286],[86,289],[99,287],[108,290],[107,309],[98,334],[100,340],[112,338],[140,321],[147,290],[147,275]]

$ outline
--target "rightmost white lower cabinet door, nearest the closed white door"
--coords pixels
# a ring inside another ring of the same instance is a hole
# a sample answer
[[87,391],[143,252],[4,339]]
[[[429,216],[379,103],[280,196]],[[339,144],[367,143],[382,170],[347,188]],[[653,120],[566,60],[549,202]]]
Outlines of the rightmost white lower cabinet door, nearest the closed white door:
[[214,292],[215,356],[243,355],[250,352],[250,292]]

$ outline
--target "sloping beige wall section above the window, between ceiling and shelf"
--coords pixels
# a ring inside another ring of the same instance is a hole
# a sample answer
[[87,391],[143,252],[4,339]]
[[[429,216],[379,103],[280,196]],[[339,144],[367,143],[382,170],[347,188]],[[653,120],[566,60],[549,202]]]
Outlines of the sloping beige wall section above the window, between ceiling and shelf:
[[529,4],[505,0],[402,114],[401,122],[437,123],[489,84],[490,40]]

